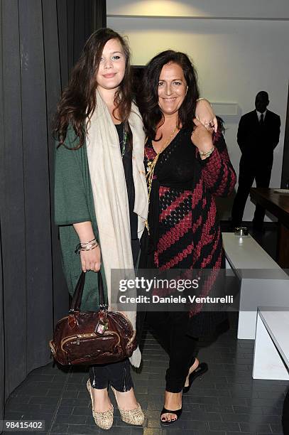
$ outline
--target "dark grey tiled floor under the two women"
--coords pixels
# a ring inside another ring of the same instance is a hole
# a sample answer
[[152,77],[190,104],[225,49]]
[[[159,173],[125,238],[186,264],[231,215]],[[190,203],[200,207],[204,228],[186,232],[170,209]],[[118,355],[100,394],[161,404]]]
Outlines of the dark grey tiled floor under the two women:
[[[264,247],[273,254],[272,239],[263,237]],[[237,435],[283,434],[281,414],[289,382],[252,380],[253,340],[236,340],[236,316],[230,328],[213,343],[201,341],[199,358],[209,365],[183,397],[180,421],[161,429],[165,369],[168,358],[150,331],[143,336],[143,367],[133,372],[136,395],[146,413],[143,428],[124,424],[119,412],[107,433],[116,435]],[[91,414],[85,387],[87,372],[65,372],[52,364],[31,372],[11,394],[6,419],[43,419],[45,434],[100,434]],[[110,393],[111,394],[111,393]],[[111,399],[115,405],[114,398]],[[10,432],[9,432],[10,433]],[[36,432],[12,432],[36,434]],[[7,432],[8,434],[8,432]],[[285,434],[289,435],[289,434]]]

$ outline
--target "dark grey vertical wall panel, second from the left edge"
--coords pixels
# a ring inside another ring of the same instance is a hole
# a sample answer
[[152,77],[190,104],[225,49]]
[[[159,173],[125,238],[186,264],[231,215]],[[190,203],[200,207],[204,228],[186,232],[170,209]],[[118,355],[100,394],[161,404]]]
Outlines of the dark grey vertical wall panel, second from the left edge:
[[[47,159],[45,60],[42,7],[19,2],[21,41],[22,145],[26,201],[27,365],[48,362],[53,326],[50,190]],[[33,95],[33,98],[31,98]],[[39,321],[41,319],[41,321]]]

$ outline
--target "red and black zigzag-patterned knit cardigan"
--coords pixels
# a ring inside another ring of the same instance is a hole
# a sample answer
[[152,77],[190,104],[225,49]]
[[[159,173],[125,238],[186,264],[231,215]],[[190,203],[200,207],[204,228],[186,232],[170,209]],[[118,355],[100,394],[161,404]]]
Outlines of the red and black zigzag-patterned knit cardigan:
[[[217,134],[214,134],[214,152],[205,160],[200,159],[197,148],[191,143],[190,135],[190,129],[180,131],[175,141],[158,158],[154,171],[148,215],[151,236],[148,237],[146,235],[148,240],[146,243],[143,242],[143,250],[147,251],[148,258],[151,255],[151,260],[148,260],[148,267],[153,267],[154,265],[154,267],[162,269],[162,265],[158,264],[158,222],[160,219],[158,202],[165,189],[175,186],[171,182],[175,159],[178,159],[180,153],[185,153],[187,149],[192,149],[190,154],[190,159],[193,161],[192,179],[184,185],[185,189],[189,189],[190,195],[192,195],[192,219],[189,224],[187,222],[185,224],[189,225],[192,242],[186,247],[185,253],[178,252],[178,255],[165,264],[163,269],[178,268],[178,264],[181,264],[180,259],[182,256],[190,256],[190,269],[210,269],[212,271],[212,273],[207,271],[209,273],[206,274],[205,282],[202,283],[200,296],[205,296],[212,289],[212,284],[214,284],[219,273],[217,271],[224,268],[222,234],[214,198],[216,196],[227,197],[231,194],[236,183],[236,173],[231,165],[227,146],[221,131],[217,131]],[[184,143],[186,143],[185,147]],[[145,154],[145,166],[147,166],[148,161],[153,160],[156,156],[156,152],[153,150],[150,142],[146,146]],[[168,166],[167,169],[165,169],[166,166]],[[197,335],[204,335],[205,331],[210,330],[207,320],[205,321],[206,325],[204,324],[204,316],[202,317],[201,310],[201,304],[197,304],[190,311],[190,316],[195,317],[193,329],[195,332],[199,331]],[[211,318],[213,317],[211,316]],[[217,313],[215,317],[217,318]],[[198,328],[196,326],[197,319],[200,323]]]

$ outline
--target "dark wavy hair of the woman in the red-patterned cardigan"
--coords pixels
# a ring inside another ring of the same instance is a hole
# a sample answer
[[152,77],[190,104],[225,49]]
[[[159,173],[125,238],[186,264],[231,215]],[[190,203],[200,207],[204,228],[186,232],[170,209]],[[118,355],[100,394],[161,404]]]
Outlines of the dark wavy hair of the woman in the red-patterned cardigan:
[[148,139],[156,140],[156,131],[165,121],[158,106],[158,81],[163,65],[177,63],[183,70],[187,82],[187,94],[178,110],[178,127],[189,127],[195,117],[199,88],[197,72],[185,53],[166,50],[156,55],[147,65],[143,73],[140,92],[138,92],[138,108],[143,117],[143,125]]

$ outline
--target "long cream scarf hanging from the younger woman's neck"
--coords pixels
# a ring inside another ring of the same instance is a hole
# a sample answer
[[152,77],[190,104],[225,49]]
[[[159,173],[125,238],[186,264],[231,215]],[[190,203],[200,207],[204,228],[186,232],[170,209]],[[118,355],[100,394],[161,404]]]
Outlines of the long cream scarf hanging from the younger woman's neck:
[[[132,167],[135,190],[133,211],[138,215],[138,238],[140,238],[148,215],[148,193],[143,166],[145,135],[141,114],[135,104],[131,108],[129,125],[133,134]],[[119,291],[119,289],[111,289],[111,269],[133,271],[133,257],[129,200],[119,136],[99,90],[97,90],[97,107],[92,114],[88,129],[87,158],[109,306],[114,309],[111,304],[111,291]],[[131,278],[131,274],[129,277]],[[136,329],[136,311],[127,311],[125,314]],[[141,353],[138,348],[130,361],[135,367],[141,364]]]

